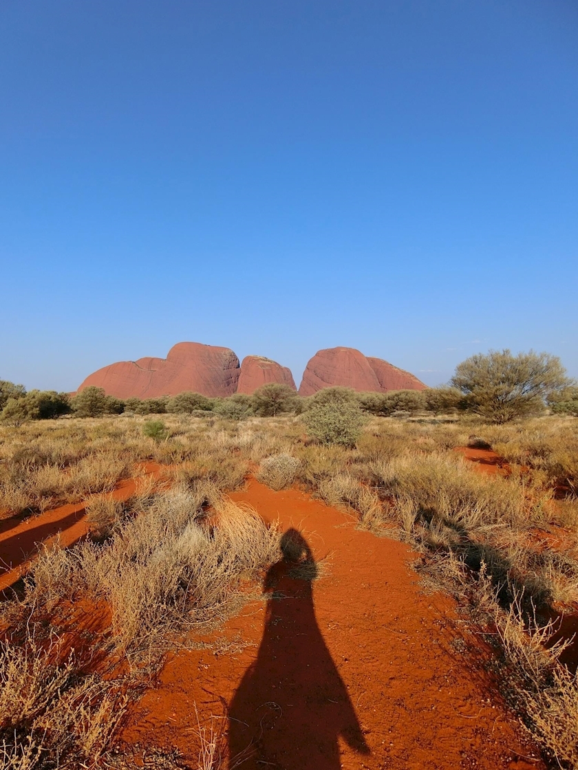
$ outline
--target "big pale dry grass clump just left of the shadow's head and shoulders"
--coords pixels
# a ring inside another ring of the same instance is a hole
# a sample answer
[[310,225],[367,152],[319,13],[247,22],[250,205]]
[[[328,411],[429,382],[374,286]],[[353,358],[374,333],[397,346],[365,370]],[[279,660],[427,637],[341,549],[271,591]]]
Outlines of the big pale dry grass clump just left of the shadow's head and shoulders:
[[[211,527],[203,524],[207,503]],[[135,650],[223,618],[242,601],[241,578],[278,557],[275,527],[205,481],[158,495],[146,516],[126,521],[104,547],[84,544],[77,559],[89,589],[111,604],[119,641]]]

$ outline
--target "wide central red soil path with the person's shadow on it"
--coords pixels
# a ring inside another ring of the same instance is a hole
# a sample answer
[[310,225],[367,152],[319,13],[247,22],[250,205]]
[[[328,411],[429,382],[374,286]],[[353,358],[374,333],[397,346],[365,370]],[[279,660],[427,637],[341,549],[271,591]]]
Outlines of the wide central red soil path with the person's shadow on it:
[[197,705],[220,728],[228,715],[230,754],[254,751],[247,770],[543,767],[480,665],[488,651],[449,598],[421,593],[407,546],[298,490],[251,480],[232,497],[301,532],[321,577],[273,567],[267,604],[227,622],[229,650],[170,655],[125,742],[176,746],[196,767]]

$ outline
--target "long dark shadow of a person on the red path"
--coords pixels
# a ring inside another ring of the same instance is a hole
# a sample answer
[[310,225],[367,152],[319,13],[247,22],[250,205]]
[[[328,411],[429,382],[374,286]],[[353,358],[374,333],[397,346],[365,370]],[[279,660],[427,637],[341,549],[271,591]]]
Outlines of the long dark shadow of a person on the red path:
[[369,748],[315,618],[311,548],[291,529],[267,572],[269,594],[257,660],[229,707],[229,770],[339,770],[338,738]]

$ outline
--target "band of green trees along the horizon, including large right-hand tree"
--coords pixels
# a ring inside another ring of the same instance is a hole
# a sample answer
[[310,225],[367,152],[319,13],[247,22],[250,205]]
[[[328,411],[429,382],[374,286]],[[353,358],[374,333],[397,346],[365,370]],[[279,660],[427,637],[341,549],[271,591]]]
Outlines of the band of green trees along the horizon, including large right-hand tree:
[[549,353],[519,353],[492,350],[477,354],[456,367],[445,387],[426,390],[391,390],[388,393],[356,393],[332,387],[313,396],[301,397],[288,385],[269,383],[252,395],[234,393],[227,398],[208,398],[200,393],[178,393],[159,398],[107,396],[99,387],[86,387],[70,397],[55,390],[30,390],[0,380],[0,420],[15,426],[28,420],[49,420],[73,414],[100,417],[105,414],[213,414],[230,420],[274,417],[282,413],[301,414],[311,404],[326,400],[333,391],[337,402],[355,403],[366,413],[379,417],[405,417],[416,413],[458,413],[472,411],[504,423],[517,417],[543,412],[578,416],[578,387],[566,377],[560,360]]

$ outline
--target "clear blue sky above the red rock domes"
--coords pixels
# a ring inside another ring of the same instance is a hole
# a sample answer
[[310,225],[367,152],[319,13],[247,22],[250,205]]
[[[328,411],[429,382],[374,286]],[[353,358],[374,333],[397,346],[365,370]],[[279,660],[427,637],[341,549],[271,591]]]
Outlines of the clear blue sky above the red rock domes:
[[3,0],[0,379],[191,340],[578,376],[576,0]]

